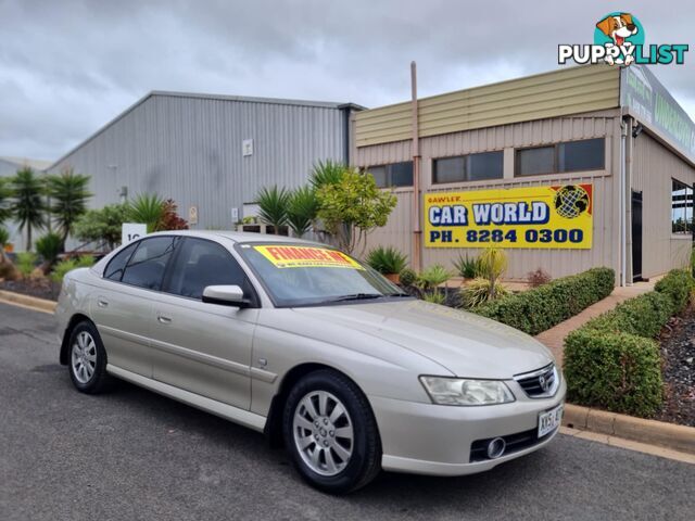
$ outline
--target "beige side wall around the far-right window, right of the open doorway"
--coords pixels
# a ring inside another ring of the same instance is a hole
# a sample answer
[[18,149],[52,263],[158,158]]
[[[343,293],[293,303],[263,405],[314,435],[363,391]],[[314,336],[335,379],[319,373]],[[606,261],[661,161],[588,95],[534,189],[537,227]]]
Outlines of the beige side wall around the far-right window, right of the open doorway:
[[654,277],[687,265],[690,234],[671,233],[671,179],[695,183],[695,168],[646,131],[633,139],[631,186],[642,191],[642,275]]

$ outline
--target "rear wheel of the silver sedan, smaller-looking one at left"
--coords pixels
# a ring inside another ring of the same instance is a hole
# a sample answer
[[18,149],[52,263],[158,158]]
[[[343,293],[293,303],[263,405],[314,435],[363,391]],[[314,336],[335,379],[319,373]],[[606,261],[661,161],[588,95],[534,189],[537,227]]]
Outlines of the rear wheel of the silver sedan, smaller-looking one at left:
[[92,322],[85,320],[73,328],[67,369],[73,384],[81,393],[97,394],[111,383],[106,373],[106,351]]

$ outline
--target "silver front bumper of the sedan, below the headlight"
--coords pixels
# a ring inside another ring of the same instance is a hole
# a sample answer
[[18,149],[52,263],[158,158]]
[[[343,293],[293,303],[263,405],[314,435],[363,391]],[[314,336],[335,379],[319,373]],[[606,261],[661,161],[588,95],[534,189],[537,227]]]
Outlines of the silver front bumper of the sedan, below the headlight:
[[516,382],[511,404],[457,407],[404,402],[369,396],[375,412],[383,457],[383,470],[432,475],[464,475],[483,472],[547,445],[559,429],[530,446],[505,453],[497,459],[471,462],[475,441],[508,436],[538,429],[539,414],[565,401],[561,379],[555,396],[528,398]]

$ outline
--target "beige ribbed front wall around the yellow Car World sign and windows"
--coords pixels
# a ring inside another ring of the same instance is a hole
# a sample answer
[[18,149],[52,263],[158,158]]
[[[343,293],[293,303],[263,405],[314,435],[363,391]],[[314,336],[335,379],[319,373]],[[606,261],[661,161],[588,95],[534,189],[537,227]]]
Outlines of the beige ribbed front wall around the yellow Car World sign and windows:
[[[606,137],[606,168],[604,170],[529,176],[514,178],[514,149],[558,141]],[[432,160],[492,150],[505,151],[504,179],[484,182],[459,182],[432,186]],[[594,185],[594,241],[591,250],[509,250],[508,278],[526,278],[529,271],[542,267],[553,278],[576,274],[594,266],[619,269],[618,173],[620,158],[619,111],[606,110],[572,117],[548,118],[497,127],[446,134],[420,140],[421,191],[480,190],[485,188],[517,188],[558,183]],[[358,147],[357,166],[372,166],[410,160],[410,141]],[[615,175],[614,175],[615,173]],[[413,215],[412,189],[396,189],[396,209],[388,225],[375,231],[368,247],[389,244],[412,254]],[[420,195],[421,196],[421,195]],[[422,199],[420,200],[422,201]],[[422,223],[422,216],[418,216]],[[422,247],[422,265],[434,263],[451,267],[460,253],[478,253],[473,249]]]

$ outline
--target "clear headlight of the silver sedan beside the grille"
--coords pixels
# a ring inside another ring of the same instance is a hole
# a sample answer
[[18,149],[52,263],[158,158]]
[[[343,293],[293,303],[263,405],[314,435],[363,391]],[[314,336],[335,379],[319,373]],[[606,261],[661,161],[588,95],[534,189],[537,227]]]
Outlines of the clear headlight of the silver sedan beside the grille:
[[494,405],[514,402],[514,394],[498,380],[420,377],[420,382],[438,405]]

